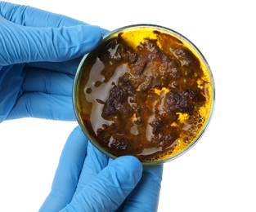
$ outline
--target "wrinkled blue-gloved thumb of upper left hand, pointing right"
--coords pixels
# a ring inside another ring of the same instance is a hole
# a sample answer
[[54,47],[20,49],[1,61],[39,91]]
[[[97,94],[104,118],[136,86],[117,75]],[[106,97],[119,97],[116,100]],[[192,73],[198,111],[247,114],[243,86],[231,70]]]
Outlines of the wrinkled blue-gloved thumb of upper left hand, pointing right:
[[29,27],[0,16],[0,66],[29,62],[60,62],[82,56],[101,41],[92,25]]

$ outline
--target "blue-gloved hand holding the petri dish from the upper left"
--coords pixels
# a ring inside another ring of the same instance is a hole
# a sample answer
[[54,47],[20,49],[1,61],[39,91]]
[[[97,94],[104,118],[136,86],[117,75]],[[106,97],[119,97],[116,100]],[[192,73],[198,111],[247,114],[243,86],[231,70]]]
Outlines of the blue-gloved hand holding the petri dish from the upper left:
[[0,122],[75,120],[71,93],[79,57],[104,33],[64,15],[0,2]]

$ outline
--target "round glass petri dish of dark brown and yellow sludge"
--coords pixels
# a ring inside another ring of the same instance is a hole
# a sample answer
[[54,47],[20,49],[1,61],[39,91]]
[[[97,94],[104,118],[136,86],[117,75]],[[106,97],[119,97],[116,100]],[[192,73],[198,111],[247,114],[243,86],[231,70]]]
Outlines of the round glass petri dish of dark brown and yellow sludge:
[[204,55],[182,34],[154,24],[106,34],[74,78],[74,112],[90,142],[109,157],[132,155],[143,165],[194,146],[214,101]]

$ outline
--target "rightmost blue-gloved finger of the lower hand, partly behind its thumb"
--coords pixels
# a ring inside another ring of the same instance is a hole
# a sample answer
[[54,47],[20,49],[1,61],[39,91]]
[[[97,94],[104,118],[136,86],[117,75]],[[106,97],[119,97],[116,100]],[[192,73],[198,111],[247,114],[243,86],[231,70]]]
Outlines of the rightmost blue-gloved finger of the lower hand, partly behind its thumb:
[[163,165],[146,166],[137,187],[125,201],[122,211],[157,211]]

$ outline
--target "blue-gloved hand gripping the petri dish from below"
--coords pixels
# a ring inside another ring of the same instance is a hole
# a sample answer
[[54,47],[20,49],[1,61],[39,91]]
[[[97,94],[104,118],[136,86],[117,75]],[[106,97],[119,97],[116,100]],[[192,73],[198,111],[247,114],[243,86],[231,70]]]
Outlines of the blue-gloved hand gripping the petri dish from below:
[[143,168],[136,157],[106,157],[77,127],[40,211],[156,211],[162,172],[163,166]]

